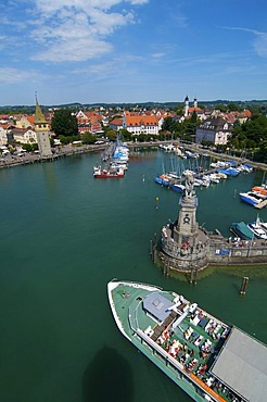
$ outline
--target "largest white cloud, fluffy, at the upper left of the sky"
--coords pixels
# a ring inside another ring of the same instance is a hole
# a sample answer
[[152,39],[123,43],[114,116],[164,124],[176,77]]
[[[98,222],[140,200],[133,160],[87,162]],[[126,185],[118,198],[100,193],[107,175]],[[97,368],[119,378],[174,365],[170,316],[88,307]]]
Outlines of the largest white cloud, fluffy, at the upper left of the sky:
[[[135,23],[132,11],[112,12],[123,0],[36,0],[36,26],[30,37],[40,47],[31,60],[86,61],[113,49],[109,36]],[[130,0],[132,5],[147,0]],[[116,9],[117,10],[117,9]]]

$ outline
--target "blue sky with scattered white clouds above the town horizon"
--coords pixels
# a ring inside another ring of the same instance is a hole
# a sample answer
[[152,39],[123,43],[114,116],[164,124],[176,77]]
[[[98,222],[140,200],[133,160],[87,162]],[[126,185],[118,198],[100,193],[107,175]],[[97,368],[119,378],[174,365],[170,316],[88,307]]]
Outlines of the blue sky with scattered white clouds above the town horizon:
[[0,105],[267,99],[267,2],[11,0]]

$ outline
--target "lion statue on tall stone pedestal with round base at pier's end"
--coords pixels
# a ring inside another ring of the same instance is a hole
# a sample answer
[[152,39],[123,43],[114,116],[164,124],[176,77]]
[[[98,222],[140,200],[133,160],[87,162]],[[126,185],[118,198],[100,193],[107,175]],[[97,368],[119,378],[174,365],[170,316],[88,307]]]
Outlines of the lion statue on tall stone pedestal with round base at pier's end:
[[169,269],[196,272],[208,265],[208,237],[196,222],[198,198],[194,191],[194,178],[189,171],[183,172],[185,189],[180,199],[180,211],[174,223],[162,229],[160,252],[167,274]]

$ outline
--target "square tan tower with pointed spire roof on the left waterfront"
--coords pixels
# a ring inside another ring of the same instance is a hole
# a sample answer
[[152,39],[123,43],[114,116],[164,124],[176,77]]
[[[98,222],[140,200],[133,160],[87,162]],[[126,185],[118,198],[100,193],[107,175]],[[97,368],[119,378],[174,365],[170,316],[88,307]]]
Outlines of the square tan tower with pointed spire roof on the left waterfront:
[[41,156],[51,156],[52,150],[50,145],[50,128],[49,124],[46,121],[46,117],[39,106],[36,96],[36,106],[35,106],[35,131],[38,142],[38,149]]

